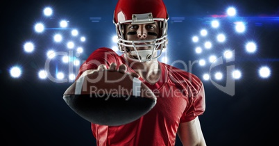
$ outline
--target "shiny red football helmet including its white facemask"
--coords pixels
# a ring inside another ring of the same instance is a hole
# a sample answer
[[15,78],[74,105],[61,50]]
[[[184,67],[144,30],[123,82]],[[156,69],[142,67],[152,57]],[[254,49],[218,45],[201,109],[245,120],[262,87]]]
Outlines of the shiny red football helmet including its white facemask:
[[[161,56],[162,49],[167,47],[167,20],[169,15],[162,0],[119,0],[114,12],[113,22],[118,35],[118,45],[131,60],[148,61]],[[126,40],[124,24],[147,24],[159,22],[160,36],[153,40]],[[134,50],[126,49],[133,47]],[[137,50],[138,47],[152,49]],[[160,51],[160,52],[157,52]],[[134,56],[134,57],[133,57]]]

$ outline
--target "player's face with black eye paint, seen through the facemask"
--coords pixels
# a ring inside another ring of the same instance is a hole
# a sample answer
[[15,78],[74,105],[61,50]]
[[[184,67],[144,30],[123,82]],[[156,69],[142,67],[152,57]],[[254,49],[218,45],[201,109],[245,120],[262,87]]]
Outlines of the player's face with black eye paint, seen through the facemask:
[[[124,32],[126,40],[152,40],[158,38],[159,36],[158,22],[150,24],[126,24]],[[146,42],[141,42],[137,44],[146,44]],[[142,50],[153,48],[139,47],[137,49]],[[133,50],[133,48],[131,48],[131,50]]]

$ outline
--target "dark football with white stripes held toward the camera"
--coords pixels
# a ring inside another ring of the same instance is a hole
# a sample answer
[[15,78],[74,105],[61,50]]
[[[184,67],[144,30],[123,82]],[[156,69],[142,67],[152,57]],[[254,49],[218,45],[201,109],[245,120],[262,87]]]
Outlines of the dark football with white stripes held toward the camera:
[[67,105],[94,124],[118,126],[148,113],[156,97],[128,73],[99,71],[77,79],[63,94]]

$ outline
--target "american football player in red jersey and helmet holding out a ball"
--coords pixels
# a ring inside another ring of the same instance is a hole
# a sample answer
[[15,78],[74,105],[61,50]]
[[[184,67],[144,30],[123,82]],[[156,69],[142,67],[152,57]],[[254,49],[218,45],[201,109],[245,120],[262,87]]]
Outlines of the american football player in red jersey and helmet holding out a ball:
[[[204,146],[198,116],[205,111],[205,90],[197,76],[158,58],[167,48],[169,14],[162,0],[119,0],[113,22],[123,54],[101,47],[81,65],[76,79],[92,72],[130,73],[157,97],[156,105],[138,120],[119,126],[91,124],[96,145]],[[171,49],[168,49],[171,51]]]

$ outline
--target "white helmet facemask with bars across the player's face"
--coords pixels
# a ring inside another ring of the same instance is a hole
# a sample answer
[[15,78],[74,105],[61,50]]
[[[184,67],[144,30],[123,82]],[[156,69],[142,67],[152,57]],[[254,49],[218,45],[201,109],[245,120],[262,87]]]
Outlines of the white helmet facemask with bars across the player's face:
[[[151,40],[126,40],[124,35],[125,24],[149,24],[158,22],[158,37]],[[157,60],[162,55],[162,50],[167,47],[167,19],[153,18],[152,13],[134,14],[132,19],[115,24],[118,35],[118,46],[128,59],[137,62]],[[149,49],[139,49],[148,47]]]

